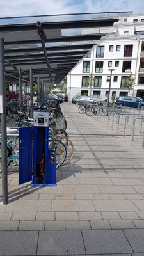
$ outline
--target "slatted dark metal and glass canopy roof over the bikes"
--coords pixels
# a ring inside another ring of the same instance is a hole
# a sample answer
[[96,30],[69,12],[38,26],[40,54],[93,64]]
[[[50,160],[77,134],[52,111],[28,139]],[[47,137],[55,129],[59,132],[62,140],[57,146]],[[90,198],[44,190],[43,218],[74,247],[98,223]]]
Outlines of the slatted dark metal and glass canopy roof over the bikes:
[[[79,13],[0,19],[0,37],[4,38],[4,61],[7,76],[29,82],[33,77],[60,83],[72,68],[92,50],[106,33],[91,33],[92,28],[115,29],[120,17],[132,12]],[[85,29],[84,34],[82,33]]]

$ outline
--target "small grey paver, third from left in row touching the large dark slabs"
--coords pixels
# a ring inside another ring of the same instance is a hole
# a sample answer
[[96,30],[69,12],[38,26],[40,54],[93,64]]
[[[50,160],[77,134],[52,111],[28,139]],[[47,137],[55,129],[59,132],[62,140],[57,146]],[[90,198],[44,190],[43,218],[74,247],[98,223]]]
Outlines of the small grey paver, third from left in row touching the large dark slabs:
[[45,230],[65,230],[65,221],[45,221]]

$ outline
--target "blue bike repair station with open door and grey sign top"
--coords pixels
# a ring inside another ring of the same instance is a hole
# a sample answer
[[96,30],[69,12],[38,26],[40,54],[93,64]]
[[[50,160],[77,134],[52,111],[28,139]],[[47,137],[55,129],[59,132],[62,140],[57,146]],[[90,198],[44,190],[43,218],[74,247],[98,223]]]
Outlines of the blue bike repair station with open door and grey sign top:
[[56,149],[49,135],[49,111],[34,111],[33,127],[19,128],[19,184],[28,181],[31,186],[56,186]]

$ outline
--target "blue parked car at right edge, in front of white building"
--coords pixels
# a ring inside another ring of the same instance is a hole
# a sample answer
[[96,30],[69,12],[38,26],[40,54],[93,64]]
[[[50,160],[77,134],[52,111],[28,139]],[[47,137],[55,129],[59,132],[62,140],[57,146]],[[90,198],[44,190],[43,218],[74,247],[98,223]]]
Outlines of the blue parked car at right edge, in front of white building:
[[144,108],[144,100],[139,97],[121,96],[115,100],[115,104],[131,108]]

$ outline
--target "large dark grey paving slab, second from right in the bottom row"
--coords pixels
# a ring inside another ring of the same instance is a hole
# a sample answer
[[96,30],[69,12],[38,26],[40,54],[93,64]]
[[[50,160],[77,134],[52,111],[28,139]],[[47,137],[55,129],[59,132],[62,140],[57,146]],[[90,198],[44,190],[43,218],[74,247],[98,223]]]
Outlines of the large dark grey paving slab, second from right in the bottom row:
[[132,253],[122,230],[84,230],[86,254]]

